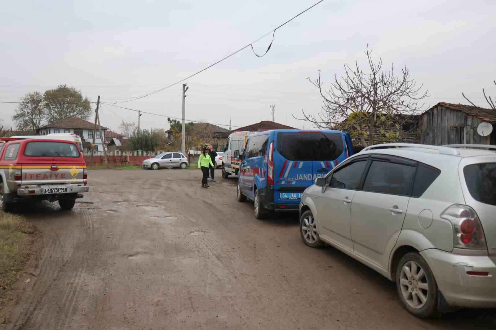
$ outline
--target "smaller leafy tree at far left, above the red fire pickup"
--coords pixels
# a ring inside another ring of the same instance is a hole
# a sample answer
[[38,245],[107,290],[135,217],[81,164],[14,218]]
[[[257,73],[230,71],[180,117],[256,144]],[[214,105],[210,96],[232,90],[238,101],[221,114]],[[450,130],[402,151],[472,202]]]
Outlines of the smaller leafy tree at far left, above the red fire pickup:
[[18,130],[35,132],[42,126],[47,115],[43,101],[40,92],[28,93],[21,99],[19,108],[12,116]]

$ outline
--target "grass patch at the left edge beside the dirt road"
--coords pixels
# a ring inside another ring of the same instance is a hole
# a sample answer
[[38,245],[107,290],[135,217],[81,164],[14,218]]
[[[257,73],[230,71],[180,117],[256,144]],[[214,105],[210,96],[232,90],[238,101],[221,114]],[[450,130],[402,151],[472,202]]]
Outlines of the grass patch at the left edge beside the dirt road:
[[25,218],[0,211],[0,305],[26,263],[35,232]]

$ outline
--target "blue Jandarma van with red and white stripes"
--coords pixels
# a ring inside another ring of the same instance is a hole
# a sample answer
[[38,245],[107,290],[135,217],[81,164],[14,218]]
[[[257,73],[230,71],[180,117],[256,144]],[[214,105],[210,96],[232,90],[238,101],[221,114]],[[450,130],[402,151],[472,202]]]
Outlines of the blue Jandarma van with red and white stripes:
[[262,219],[269,210],[298,211],[303,191],[353,148],[346,132],[278,129],[251,135],[239,153],[238,201],[253,200]]

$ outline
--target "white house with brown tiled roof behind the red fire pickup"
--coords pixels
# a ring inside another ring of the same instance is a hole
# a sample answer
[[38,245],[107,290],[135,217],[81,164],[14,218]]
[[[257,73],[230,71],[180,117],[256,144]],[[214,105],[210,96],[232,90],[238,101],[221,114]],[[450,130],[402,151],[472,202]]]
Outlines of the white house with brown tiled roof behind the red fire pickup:
[[[73,133],[81,137],[83,142],[83,151],[91,151],[91,143],[93,142],[94,123],[77,117],[67,117],[51,124],[42,126],[36,130],[38,135],[47,135],[51,133]],[[95,135],[95,147],[98,151],[103,152],[102,141],[105,143],[105,131],[107,127],[101,127],[103,136],[97,128]],[[97,150],[95,148],[95,150]]]

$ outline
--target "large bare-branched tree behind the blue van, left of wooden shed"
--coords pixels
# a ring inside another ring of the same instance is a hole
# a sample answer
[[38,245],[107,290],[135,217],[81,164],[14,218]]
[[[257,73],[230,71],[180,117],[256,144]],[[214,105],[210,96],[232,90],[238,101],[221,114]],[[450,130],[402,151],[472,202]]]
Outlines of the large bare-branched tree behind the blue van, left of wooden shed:
[[308,78],[324,99],[322,109],[316,116],[302,111],[304,117],[295,118],[310,121],[318,128],[349,131],[364,147],[398,140],[403,126],[410,124],[412,115],[424,106],[419,101],[428,96],[427,91],[421,93],[423,84],[416,85],[406,65],[397,76],[394,65],[386,72],[382,69],[382,58],[374,63],[371,54],[367,46],[369,73],[364,73],[357,61],[354,67],[344,64],[344,76],[338,79],[334,74],[334,81],[325,93],[320,70],[318,79]]

